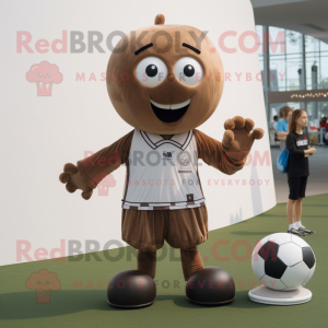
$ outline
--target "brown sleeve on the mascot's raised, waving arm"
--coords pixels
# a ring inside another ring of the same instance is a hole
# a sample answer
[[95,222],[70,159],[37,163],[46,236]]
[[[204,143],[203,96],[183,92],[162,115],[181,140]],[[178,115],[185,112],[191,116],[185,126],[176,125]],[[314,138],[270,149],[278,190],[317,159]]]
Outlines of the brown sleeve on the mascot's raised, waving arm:
[[196,129],[194,129],[194,136],[197,143],[198,157],[207,164],[227,175],[232,175],[244,167],[247,157],[244,163],[241,163],[241,161],[229,156],[229,152],[224,151],[220,141]]

